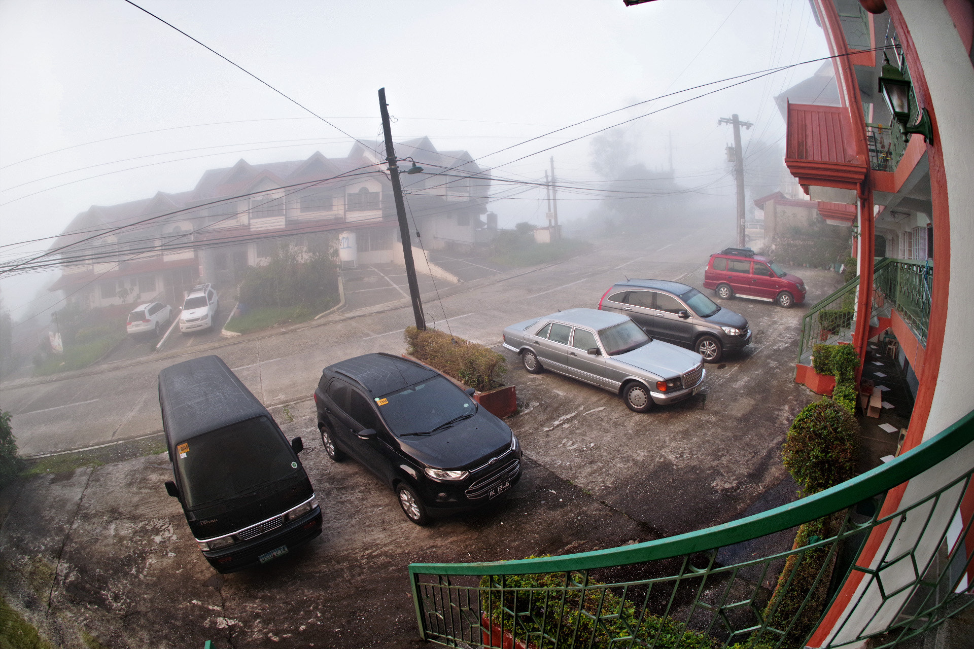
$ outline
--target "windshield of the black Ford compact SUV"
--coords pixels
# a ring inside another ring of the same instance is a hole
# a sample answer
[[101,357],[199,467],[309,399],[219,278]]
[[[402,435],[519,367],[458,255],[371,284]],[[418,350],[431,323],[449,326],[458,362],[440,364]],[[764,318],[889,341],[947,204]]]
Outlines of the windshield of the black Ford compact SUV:
[[[385,402],[385,403],[384,403]],[[376,399],[379,414],[394,435],[428,433],[437,426],[474,412],[474,403],[459,387],[433,377]]]

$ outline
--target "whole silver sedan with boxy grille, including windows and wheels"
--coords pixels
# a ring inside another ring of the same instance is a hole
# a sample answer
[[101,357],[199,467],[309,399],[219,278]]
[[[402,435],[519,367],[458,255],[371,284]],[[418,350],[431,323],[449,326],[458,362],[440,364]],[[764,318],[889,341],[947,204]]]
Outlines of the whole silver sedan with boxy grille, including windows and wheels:
[[531,374],[551,370],[605,388],[629,410],[676,403],[696,394],[706,371],[700,354],[650,338],[621,313],[569,308],[504,330],[504,346]]

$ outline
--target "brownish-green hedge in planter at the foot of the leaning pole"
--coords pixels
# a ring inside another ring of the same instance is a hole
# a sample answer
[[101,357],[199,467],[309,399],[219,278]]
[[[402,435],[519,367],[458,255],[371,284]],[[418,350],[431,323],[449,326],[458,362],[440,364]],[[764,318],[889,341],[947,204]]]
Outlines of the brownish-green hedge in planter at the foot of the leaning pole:
[[406,328],[408,353],[479,392],[500,387],[507,371],[504,356],[436,329]]

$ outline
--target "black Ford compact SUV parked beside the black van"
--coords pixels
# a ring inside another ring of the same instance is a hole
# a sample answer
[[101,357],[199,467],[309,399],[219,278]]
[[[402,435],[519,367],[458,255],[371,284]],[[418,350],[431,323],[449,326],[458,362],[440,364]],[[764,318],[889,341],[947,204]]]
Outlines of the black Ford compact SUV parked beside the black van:
[[413,523],[484,505],[520,479],[521,449],[472,393],[392,354],[329,365],[315,390],[321,444],[392,487]]

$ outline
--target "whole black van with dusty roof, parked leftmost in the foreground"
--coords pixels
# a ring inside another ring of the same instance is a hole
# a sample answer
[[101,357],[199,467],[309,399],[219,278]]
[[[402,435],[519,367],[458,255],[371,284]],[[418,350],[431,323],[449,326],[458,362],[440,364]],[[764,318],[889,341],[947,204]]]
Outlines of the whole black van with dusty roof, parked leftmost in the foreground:
[[266,563],[321,533],[321,510],[298,453],[219,356],[159,373],[159,405],[186,521],[210,565]]

